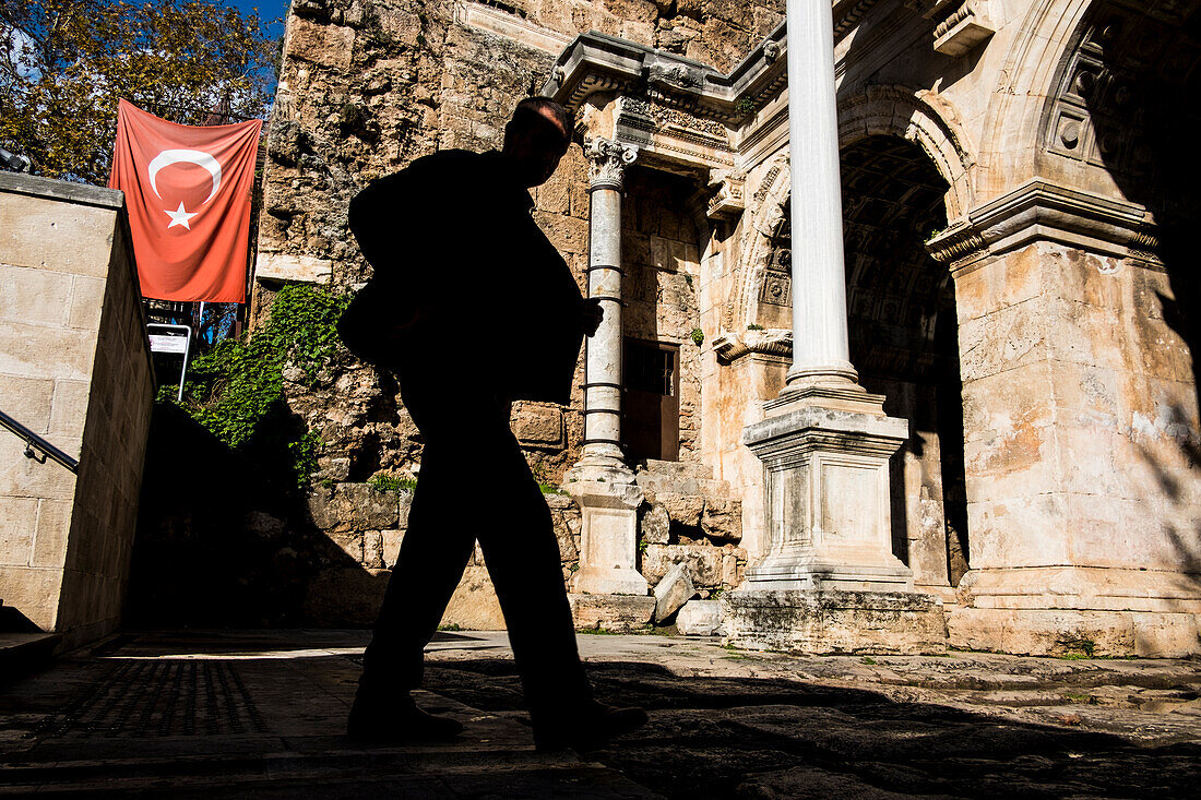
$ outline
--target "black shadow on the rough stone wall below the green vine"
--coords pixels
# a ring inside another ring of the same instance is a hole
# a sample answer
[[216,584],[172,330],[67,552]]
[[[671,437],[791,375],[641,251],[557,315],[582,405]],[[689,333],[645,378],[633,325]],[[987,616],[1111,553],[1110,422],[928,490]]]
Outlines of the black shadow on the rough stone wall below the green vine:
[[310,584],[330,566],[376,580],[365,602],[378,604],[387,577],[376,579],[311,523],[287,453],[300,425],[279,402],[255,431],[251,458],[178,406],[155,406],[126,627],[303,625]]

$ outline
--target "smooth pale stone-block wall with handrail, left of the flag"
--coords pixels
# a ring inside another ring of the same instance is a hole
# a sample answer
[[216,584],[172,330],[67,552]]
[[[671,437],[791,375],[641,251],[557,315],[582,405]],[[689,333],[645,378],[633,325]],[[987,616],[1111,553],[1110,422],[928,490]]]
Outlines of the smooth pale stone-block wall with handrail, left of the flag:
[[0,598],[62,646],[118,626],[154,394],[120,192],[0,173]]

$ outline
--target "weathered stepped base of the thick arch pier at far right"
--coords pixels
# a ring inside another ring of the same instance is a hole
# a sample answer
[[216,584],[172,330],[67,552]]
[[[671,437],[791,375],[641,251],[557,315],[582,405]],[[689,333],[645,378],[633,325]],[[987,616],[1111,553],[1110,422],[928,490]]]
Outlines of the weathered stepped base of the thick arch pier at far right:
[[950,614],[951,644],[1029,656],[1201,653],[1195,577],[1151,569],[973,569]]

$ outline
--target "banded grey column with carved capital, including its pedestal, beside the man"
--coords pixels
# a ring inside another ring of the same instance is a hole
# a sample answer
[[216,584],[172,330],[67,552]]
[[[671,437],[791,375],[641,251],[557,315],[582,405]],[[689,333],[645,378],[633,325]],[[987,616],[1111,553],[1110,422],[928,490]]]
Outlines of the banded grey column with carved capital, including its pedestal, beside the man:
[[[592,139],[588,157],[588,297],[600,300],[604,320],[587,340],[584,377],[584,452],[567,473],[567,491],[580,505],[580,569],[572,590],[586,595],[634,595],[650,586],[638,572],[638,507],[643,490],[621,452],[621,192],[638,150]],[[622,603],[610,621],[650,619],[646,603]],[[646,615],[646,619],[632,619]],[[631,619],[625,619],[631,617]]]

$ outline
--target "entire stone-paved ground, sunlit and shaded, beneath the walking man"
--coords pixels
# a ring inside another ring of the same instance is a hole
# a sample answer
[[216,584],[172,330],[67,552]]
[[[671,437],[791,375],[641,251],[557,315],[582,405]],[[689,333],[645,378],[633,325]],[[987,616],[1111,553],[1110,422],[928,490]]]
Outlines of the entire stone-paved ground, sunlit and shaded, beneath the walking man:
[[813,657],[581,635],[650,724],[538,754],[503,633],[447,632],[441,747],[342,735],[363,632],[135,633],[0,688],[0,795],[155,798],[1197,796],[1201,662]]

